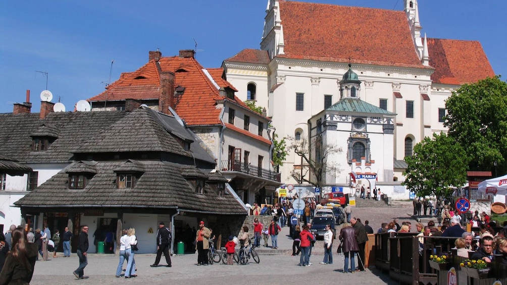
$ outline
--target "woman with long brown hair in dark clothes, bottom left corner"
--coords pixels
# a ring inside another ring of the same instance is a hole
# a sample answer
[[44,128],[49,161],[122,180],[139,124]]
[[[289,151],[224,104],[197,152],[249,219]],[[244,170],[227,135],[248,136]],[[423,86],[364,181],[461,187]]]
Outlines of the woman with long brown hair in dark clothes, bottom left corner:
[[12,249],[0,273],[0,284],[28,284],[33,276],[37,246],[28,242],[24,229],[12,232]]

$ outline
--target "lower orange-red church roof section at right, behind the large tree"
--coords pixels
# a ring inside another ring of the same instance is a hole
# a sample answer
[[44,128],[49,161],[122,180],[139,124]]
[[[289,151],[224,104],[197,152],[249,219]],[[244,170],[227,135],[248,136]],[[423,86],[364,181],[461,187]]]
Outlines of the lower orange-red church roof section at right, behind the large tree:
[[462,85],[495,75],[476,40],[428,38],[429,65],[434,83]]

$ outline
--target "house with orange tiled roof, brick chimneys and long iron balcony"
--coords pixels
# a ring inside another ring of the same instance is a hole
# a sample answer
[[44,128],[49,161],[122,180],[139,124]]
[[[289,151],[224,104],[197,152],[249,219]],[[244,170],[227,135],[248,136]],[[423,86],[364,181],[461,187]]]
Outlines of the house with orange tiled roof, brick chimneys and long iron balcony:
[[146,104],[176,114],[211,150],[218,169],[244,203],[272,202],[281,185],[272,160],[270,118],[252,111],[222,78],[223,69],[203,68],[192,50],[162,57],[149,52],[148,63],[89,98],[92,111],[121,110]]

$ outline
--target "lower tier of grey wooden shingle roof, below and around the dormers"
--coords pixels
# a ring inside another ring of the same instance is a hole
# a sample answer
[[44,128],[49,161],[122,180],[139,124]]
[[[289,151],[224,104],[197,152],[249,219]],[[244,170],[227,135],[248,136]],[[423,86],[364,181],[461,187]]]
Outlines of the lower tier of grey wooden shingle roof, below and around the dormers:
[[[15,202],[19,207],[86,208],[172,208],[209,214],[245,214],[231,194],[219,197],[206,184],[204,194],[197,194],[182,176],[182,166],[160,160],[138,160],[143,173],[132,188],[117,188],[115,170],[126,161],[98,161],[98,170],[85,189],[68,189],[66,169]],[[68,168],[73,168],[74,162]]]

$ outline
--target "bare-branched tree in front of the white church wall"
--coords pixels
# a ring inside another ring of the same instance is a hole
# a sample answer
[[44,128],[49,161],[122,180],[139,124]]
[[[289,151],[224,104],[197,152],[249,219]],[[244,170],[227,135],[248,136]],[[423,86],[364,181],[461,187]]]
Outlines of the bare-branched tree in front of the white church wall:
[[315,136],[309,141],[301,137],[296,140],[294,137],[286,137],[287,148],[301,157],[300,168],[294,167],[291,176],[300,183],[306,182],[315,187],[322,187],[325,175],[332,172],[341,172],[340,165],[328,166],[327,161],[330,155],[342,152],[337,145],[326,144],[322,136]]

